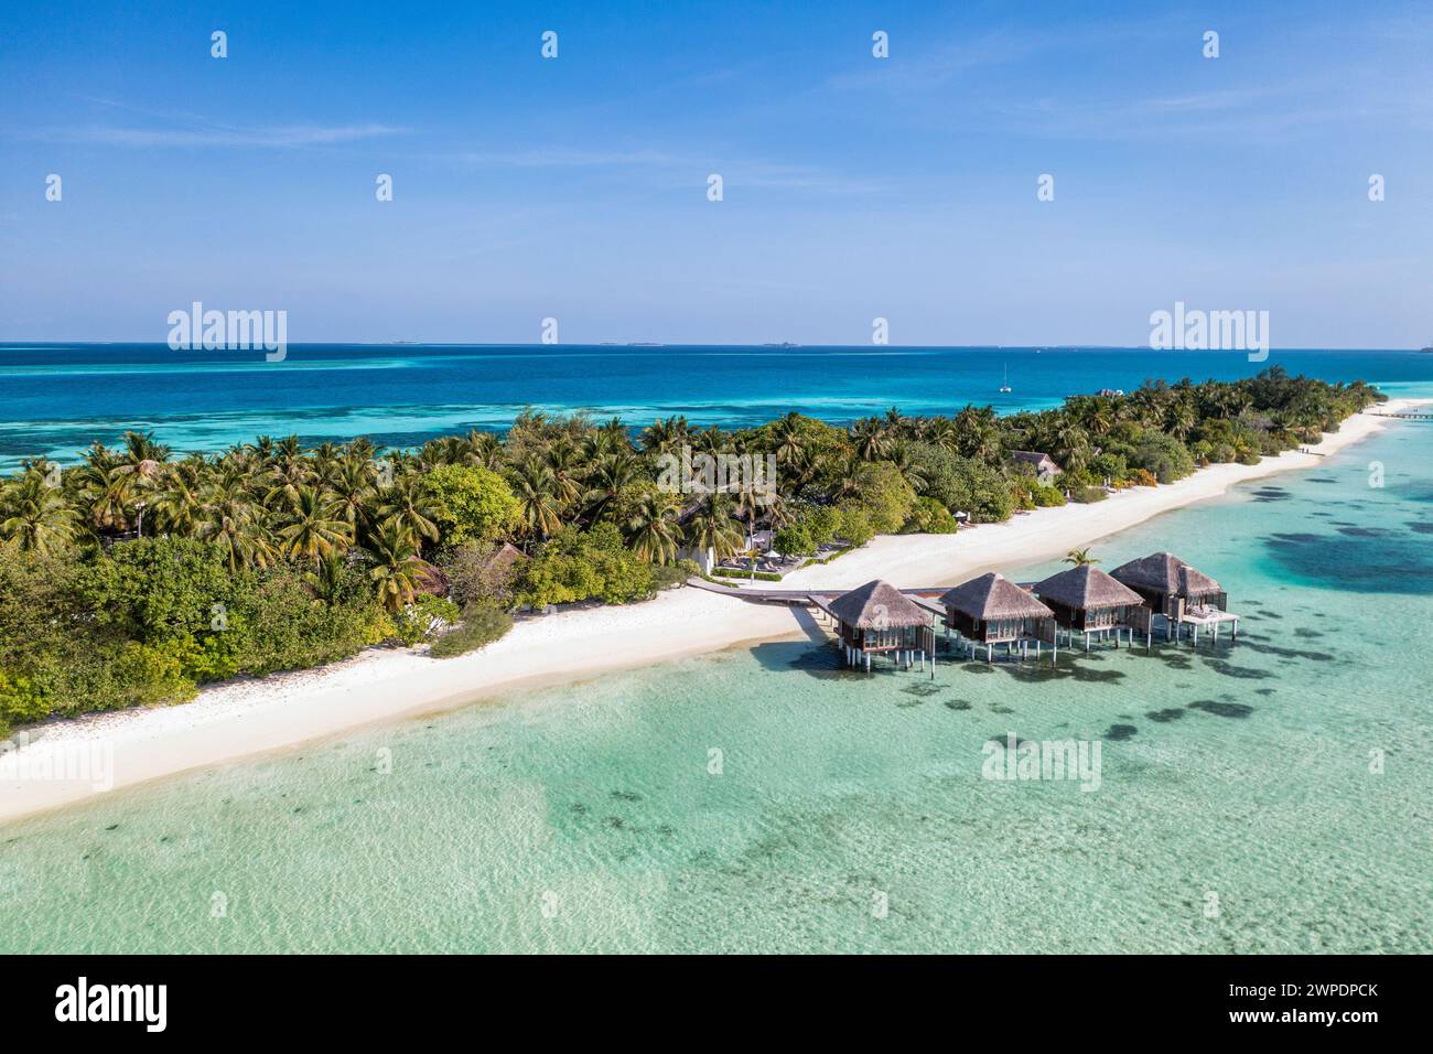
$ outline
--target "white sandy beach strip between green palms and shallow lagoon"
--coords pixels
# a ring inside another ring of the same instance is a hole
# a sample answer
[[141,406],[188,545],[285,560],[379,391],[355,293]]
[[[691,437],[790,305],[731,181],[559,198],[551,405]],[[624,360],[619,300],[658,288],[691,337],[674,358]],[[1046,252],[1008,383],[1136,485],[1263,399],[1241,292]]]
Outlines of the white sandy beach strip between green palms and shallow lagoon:
[[[1433,400],[1399,399],[1390,412]],[[856,587],[884,578],[897,587],[954,585],[1091,545],[1162,512],[1209,500],[1265,476],[1323,463],[1381,432],[1393,419],[1358,413],[1326,435],[1317,453],[1285,452],[1258,465],[1212,465],[1159,488],[1135,488],[1093,505],[1066,505],[984,523],[954,535],[881,535],[825,566],[787,575],[782,587]],[[735,579],[732,579],[735,582]],[[401,648],[370,648],[341,663],[202,688],[191,703],[89,714],[21,730],[14,757],[47,750],[113,751],[113,787],[282,751],[355,728],[456,710],[506,691],[575,683],[602,674],[709,654],[807,632],[797,609],[751,604],[695,588],[671,589],[631,607],[579,607],[517,622],[470,655],[433,660]],[[96,793],[87,780],[0,780],[0,823]]]

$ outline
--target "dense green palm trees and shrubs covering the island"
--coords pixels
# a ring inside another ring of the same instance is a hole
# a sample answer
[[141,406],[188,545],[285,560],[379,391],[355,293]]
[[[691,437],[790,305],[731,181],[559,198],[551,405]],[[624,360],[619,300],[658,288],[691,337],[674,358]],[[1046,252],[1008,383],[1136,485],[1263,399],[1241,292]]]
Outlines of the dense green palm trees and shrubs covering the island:
[[[0,483],[0,723],[182,700],[378,641],[437,634],[453,654],[493,638],[492,612],[641,601],[684,581],[684,558],[737,555],[761,528],[800,555],[949,532],[1255,462],[1381,397],[1273,369],[850,427],[790,413],[737,432],[682,417],[632,430],[526,412],[506,436],[418,450],[289,436],[185,457],[130,432]],[[1037,480],[1015,450],[1048,453],[1060,475]],[[701,455],[770,457],[775,486],[663,486],[663,463]]]

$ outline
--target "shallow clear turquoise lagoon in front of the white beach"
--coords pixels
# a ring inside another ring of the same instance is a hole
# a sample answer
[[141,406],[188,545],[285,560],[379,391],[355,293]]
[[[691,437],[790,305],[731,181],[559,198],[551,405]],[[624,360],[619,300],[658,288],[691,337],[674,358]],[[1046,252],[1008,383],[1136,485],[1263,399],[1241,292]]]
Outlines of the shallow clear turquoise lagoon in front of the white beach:
[[[762,644],[6,825],[0,951],[1433,951],[1430,453],[1396,424],[1095,546],[1218,576],[1234,645]],[[1099,789],[983,779],[1009,733],[1098,739]]]

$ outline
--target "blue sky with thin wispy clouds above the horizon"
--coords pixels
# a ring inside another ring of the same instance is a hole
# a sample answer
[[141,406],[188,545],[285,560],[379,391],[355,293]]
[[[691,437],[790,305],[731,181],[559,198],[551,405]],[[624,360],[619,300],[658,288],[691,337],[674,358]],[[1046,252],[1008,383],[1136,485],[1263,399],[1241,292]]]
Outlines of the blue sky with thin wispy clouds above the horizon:
[[1268,310],[1284,347],[1433,340],[1426,3],[3,23],[3,340],[163,341],[193,300],[287,310],[295,343],[535,343],[556,317],[565,343],[863,344],[880,315],[896,344],[1134,346],[1176,300]]

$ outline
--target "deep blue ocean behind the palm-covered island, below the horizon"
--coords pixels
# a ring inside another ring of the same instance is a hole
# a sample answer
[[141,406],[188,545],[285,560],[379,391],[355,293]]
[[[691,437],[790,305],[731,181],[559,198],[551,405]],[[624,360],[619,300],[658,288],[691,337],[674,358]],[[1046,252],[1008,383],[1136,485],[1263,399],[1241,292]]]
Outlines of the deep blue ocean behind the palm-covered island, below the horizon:
[[[754,424],[800,410],[845,423],[897,406],[952,413],[1056,406],[1146,379],[1232,380],[1283,366],[1390,394],[1433,390],[1433,354],[1274,350],[1151,351],[1072,347],[694,347],[302,344],[262,351],[172,351],[163,344],[0,344],[0,467],[47,455],[72,463],[92,440],[152,429],[176,452],[257,435],[308,443],[368,436],[413,446],[470,427],[503,429],[524,406],[592,410],[643,426],[658,416]],[[1010,393],[1000,393],[1009,370]]]

